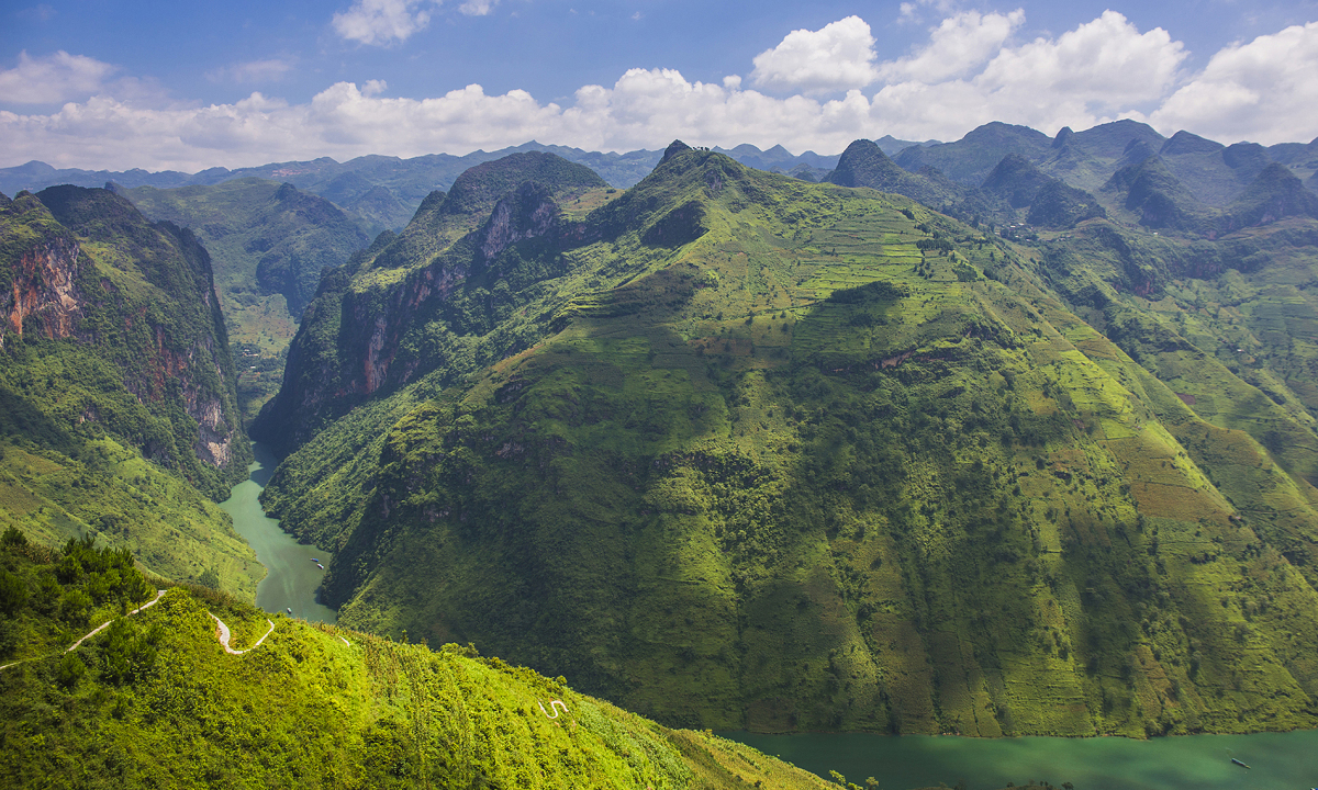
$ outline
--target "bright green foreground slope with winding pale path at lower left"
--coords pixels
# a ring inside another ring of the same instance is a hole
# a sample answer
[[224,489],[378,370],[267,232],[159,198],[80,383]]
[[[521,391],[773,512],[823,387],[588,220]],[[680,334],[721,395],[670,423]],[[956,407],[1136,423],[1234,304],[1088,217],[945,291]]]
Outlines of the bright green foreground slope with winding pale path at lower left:
[[[0,552],[0,625],[72,625],[42,592],[91,585]],[[78,554],[82,552],[82,554]],[[95,553],[95,552],[94,552]],[[117,573],[117,571],[115,571]],[[133,573],[130,565],[125,573]],[[95,574],[94,574],[95,575]],[[117,578],[117,575],[116,575]],[[100,575],[96,575],[100,585]],[[149,589],[148,589],[148,592]],[[90,598],[88,598],[90,600]],[[96,610],[91,623],[115,612]],[[822,789],[709,733],[672,731],[471,648],[431,652],[175,587],[72,652],[0,670],[0,770],[13,787]],[[78,628],[80,633],[87,628]],[[548,711],[548,712],[546,712]],[[550,718],[548,714],[554,714]]]

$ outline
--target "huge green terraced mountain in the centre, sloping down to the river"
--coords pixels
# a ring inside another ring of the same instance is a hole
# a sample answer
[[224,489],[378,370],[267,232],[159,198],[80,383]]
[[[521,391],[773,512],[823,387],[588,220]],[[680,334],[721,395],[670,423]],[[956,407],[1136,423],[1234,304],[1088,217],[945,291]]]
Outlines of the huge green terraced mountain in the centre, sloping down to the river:
[[[519,353],[377,390],[268,490],[339,550],[341,623],[473,641],[667,723],[1318,724],[1311,417],[1136,300],[1220,270],[1155,265],[1101,219],[1093,253],[1036,254],[680,144],[580,221],[493,255],[492,226],[415,304],[448,348]],[[509,309],[465,323],[501,284]]]

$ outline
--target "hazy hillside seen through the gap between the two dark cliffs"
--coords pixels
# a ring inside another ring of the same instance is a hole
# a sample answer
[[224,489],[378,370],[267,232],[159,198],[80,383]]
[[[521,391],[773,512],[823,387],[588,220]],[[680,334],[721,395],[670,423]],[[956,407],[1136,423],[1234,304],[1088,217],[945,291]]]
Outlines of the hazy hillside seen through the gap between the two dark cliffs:
[[289,342],[320,271],[365,249],[377,229],[323,198],[257,178],[119,192],[146,216],[192,229],[211,253],[215,290],[241,361],[239,400],[250,420],[279,388]]

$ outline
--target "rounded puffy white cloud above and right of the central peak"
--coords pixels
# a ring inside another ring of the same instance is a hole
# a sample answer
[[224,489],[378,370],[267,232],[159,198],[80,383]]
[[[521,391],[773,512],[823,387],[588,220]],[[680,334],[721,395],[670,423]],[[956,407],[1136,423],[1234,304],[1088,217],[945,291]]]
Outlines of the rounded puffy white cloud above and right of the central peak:
[[771,50],[755,55],[751,82],[771,91],[832,93],[874,82],[870,25],[849,16],[820,30],[792,30]]

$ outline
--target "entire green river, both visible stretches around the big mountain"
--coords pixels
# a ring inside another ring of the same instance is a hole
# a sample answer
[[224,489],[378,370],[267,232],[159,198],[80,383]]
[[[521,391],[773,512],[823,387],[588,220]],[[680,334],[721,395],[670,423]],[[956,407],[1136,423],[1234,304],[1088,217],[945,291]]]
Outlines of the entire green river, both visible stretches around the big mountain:
[[[316,600],[331,556],[299,544],[266,517],[257,498],[277,460],[253,445],[250,477],[233,486],[220,504],[269,571],[257,587],[257,606],[269,612],[293,610],[297,618],[335,621],[335,611]],[[766,754],[776,754],[828,777],[841,772],[858,785],[867,777],[886,790],[956,785],[998,790],[1031,779],[1075,790],[1306,790],[1318,786],[1318,731],[1261,735],[1197,735],[1136,741],[1122,737],[883,736],[869,733],[755,735],[721,733]],[[1236,757],[1248,769],[1234,765]]]

